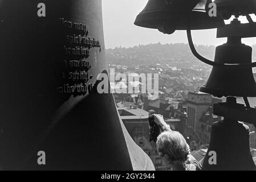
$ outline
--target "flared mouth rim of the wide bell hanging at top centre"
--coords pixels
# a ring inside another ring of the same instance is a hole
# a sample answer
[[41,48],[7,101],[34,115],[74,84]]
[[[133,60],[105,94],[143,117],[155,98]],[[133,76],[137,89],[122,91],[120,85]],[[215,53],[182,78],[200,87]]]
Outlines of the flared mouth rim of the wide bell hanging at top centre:
[[170,13],[168,10],[147,10],[137,15],[134,24],[139,27],[153,29],[158,29],[164,24],[173,24],[176,30],[187,30],[186,19],[188,17],[194,20],[193,23],[191,23],[191,30],[205,30],[225,26],[225,22],[220,15],[210,17],[205,10],[200,9],[193,9],[191,13]]

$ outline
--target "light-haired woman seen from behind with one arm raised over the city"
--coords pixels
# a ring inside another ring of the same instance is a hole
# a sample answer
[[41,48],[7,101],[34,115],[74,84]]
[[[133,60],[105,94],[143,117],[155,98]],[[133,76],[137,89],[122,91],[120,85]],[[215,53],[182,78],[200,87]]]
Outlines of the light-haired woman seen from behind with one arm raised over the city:
[[157,151],[161,158],[172,166],[174,171],[196,171],[198,162],[190,154],[190,148],[185,138],[178,131],[172,131],[164,122],[162,115],[153,115],[157,125],[160,125],[164,130],[157,137],[156,142]]

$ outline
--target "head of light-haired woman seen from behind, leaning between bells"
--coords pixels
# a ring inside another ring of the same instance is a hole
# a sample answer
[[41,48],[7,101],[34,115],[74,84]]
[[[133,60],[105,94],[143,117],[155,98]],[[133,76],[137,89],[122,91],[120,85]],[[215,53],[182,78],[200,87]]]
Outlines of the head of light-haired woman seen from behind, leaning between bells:
[[185,138],[177,131],[165,131],[157,137],[157,151],[168,164],[185,163],[190,149]]

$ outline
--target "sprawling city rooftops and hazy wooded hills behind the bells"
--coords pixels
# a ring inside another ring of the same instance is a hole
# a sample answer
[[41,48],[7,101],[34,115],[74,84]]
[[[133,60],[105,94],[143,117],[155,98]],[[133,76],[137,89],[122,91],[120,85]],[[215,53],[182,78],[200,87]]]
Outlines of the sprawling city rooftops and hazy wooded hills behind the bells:
[[[214,58],[214,46],[196,48],[205,57]],[[149,142],[148,117],[155,113],[162,114],[173,130],[184,135],[197,160],[204,158],[210,142],[212,123],[222,119],[213,114],[213,105],[225,102],[225,98],[199,92],[212,68],[196,60],[190,53],[188,44],[158,43],[107,49],[106,59],[108,68],[115,69],[115,74],[130,73],[138,80],[141,73],[159,74],[157,95],[149,92],[114,93],[125,127],[133,140],[150,156],[156,169],[168,170],[170,166],[160,158],[155,142]],[[255,52],[253,59],[255,60]],[[111,83],[112,91],[120,85],[132,85],[141,89],[140,81],[123,79]],[[237,100],[244,104],[242,98]],[[249,100],[251,105],[256,105],[253,98]],[[249,123],[246,125],[250,127],[251,154],[256,163],[255,127]]]

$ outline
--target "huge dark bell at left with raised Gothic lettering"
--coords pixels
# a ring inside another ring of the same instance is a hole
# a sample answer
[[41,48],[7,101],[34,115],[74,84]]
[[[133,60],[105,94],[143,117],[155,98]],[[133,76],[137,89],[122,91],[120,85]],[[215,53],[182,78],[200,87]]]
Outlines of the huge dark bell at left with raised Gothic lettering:
[[154,170],[112,93],[96,92],[101,0],[45,0],[45,17],[41,2],[0,1],[0,170]]

